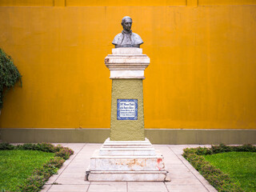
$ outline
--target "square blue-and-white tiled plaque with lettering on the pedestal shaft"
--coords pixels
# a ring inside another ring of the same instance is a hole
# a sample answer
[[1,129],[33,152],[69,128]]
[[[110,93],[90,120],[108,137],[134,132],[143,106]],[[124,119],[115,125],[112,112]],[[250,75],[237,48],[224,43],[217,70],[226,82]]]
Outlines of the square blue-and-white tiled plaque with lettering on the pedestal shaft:
[[118,99],[118,120],[138,120],[138,99]]

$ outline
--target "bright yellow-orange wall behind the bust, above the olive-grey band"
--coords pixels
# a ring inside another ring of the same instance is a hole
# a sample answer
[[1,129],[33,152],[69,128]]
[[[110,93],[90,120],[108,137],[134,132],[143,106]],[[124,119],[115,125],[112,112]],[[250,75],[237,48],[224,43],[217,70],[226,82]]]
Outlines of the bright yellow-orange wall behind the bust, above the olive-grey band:
[[0,127],[109,128],[104,58],[129,15],[151,59],[146,128],[255,129],[255,1],[213,2],[0,0],[0,46],[23,75]]

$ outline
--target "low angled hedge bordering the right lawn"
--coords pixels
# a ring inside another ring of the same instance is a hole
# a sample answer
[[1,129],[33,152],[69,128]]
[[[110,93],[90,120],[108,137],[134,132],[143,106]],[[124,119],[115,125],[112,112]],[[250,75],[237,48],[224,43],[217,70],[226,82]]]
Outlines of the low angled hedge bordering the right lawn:
[[202,176],[206,178],[206,180],[210,182],[210,184],[214,186],[216,190],[221,192],[240,192],[242,191],[242,189],[238,183],[231,182],[230,176],[228,174],[223,174],[221,170],[214,166],[211,166],[210,162],[206,162],[205,158],[201,155],[219,154],[231,151],[256,152],[256,146],[226,146],[224,144],[220,144],[219,146],[211,146],[210,148],[186,148],[183,151],[184,152],[182,156],[186,158],[186,160],[190,162],[192,166],[194,166],[194,169],[198,170],[198,172],[202,174]]

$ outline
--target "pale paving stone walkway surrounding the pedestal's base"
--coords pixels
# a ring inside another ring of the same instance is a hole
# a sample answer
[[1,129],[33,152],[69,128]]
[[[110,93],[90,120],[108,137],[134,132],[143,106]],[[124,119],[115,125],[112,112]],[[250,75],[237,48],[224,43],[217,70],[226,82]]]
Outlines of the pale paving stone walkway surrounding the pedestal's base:
[[54,174],[42,191],[56,192],[216,192],[209,182],[194,170],[190,163],[182,157],[186,147],[199,145],[153,145],[163,154],[166,170],[169,171],[170,182],[88,182],[84,181],[86,168],[94,150],[102,144],[60,143],[74,150],[70,159],[66,160],[58,174]]

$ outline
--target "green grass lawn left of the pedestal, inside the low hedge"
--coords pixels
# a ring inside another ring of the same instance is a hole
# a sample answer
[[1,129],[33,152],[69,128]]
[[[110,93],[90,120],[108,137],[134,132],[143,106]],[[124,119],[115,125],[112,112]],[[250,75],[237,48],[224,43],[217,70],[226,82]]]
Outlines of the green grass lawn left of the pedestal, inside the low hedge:
[[0,150],[0,190],[15,191],[35,168],[53,157],[38,150]]

